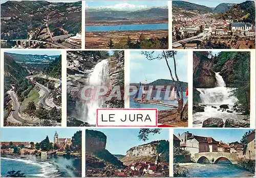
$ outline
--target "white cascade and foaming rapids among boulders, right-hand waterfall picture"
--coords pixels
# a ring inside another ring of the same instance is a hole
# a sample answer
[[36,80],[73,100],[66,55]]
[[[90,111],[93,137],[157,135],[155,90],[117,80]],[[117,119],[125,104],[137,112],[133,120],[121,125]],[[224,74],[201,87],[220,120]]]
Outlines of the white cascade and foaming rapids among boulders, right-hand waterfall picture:
[[[242,120],[244,118],[240,113],[228,113],[227,111],[222,111],[220,109],[220,105],[228,105],[229,111],[234,103],[238,101],[235,96],[230,96],[232,94],[232,88],[227,88],[226,84],[219,74],[216,72],[216,87],[215,88],[197,88],[200,92],[200,99],[202,100],[202,104],[206,105],[204,107],[204,112],[197,112],[193,114],[193,121],[197,121],[198,123],[193,123],[195,127],[202,127],[202,123],[205,119],[210,117],[218,117],[225,120],[227,118]],[[216,108],[212,108],[216,107]]]

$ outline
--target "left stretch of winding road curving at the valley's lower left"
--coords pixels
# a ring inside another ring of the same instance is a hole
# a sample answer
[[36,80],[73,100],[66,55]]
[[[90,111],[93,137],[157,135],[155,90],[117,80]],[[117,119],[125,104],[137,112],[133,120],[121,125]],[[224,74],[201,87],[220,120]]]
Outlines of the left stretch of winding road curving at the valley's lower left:
[[32,124],[32,125],[37,124],[37,122],[26,120],[22,116],[20,116],[20,114],[19,114],[19,103],[18,103],[18,99],[16,97],[16,94],[14,93],[14,91],[8,91],[7,93],[11,96],[12,103],[13,103],[12,112],[8,117],[9,120],[11,122],[14,122],[14,123],[27,123],[27,124]]

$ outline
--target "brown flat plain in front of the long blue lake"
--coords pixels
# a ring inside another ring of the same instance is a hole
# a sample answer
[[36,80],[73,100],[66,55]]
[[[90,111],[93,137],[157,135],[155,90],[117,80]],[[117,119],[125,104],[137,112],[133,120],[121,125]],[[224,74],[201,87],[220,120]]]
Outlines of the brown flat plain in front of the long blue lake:
[[168,30],[86,32],[86,48],[109,48],[110,39],[114,44],[126,44],[128,37],[137,40],[142,33],[146,39],[168,36]]

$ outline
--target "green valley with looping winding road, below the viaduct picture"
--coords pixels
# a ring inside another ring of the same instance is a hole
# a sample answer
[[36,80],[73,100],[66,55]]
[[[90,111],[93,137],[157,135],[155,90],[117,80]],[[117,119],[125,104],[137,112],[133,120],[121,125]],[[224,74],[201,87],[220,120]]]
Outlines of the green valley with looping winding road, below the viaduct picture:
[[4,125],[61,125],[61,55],[4,57]]

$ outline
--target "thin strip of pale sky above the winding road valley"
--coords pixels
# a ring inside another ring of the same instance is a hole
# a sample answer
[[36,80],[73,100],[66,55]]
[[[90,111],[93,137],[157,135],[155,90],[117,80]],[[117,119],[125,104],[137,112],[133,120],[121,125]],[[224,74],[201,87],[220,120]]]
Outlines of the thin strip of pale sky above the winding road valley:
[[61,55],[61,50],[5,50],[7,53],[22,54],[22,55]]

